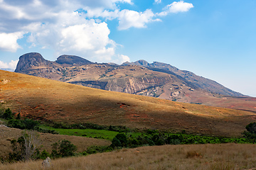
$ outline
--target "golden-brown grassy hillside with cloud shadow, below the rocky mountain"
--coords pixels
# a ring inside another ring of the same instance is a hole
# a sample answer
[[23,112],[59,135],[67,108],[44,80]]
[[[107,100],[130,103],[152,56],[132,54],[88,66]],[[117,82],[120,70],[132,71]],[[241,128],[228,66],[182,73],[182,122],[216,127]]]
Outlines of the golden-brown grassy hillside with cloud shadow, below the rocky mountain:
[[0,101],[23,116],[63,123],[126,125],[240,136],[255,113],[92,89],[0,70]]

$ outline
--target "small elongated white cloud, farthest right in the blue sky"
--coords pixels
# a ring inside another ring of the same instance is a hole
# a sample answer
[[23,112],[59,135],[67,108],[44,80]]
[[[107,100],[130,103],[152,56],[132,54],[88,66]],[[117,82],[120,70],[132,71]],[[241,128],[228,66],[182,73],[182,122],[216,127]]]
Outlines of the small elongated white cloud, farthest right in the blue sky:
[[189,9],[193,8],[193,4],[187,3],[184,1],[174,1],[173,3],[167,5],[164,8],[164,11],[161,13],[158,13],[158,16],[166,16],[169,13],[179,13],[179,12],[187,12]]

